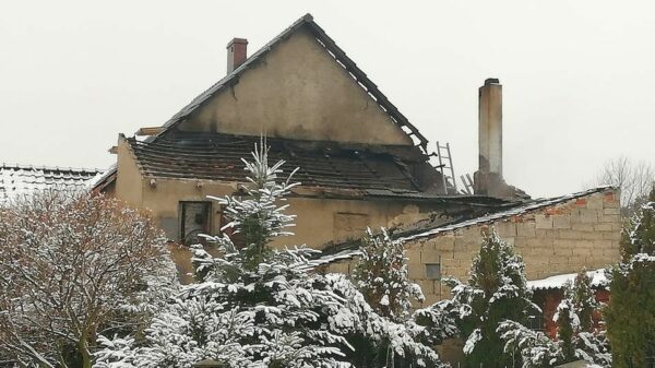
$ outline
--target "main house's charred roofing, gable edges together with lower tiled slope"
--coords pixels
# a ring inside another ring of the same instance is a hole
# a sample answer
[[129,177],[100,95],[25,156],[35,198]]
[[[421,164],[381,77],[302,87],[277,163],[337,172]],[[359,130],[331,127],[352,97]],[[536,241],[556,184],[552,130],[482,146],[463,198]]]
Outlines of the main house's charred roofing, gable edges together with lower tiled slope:
[[[390,118],[402,128],[418,146],[377,146],[354,147],[352,150],[330,146],[319,150],[289,150],[284,144],[272,147],[272,158],[284,158],[288,166],[300,167],[297,179],[303,187],[338,188],[358,190],[358,195],[376,198],[392,198],[414,195],[415,200],[432,200],[426,192],[443,192],[441,188],[422,188],[424,183],[432,180],[431,187],[442,186],[440,177],[432,174],[417,175],[417,163],[427,163],[425,156],[428,140],[420,134],[407,118],[386,98],[368,75],[342,50],[336,43],[327,36],[314,21],[311,14],[306,14],[294,22],[288,28],[264,45],[246,61],[216,82],[210,88],[196,96],[179,112],[164,123],[156,135],[151,135],[144,141],[129,139],[130,147],[138,157],[142,173],[150,177],[207,179],[207,180],[235,180],[242,179],[240,158],[250,157],[255,141],[259,138],[236,138],[235,142],[205,132],[204,142],[195,140],[189,144],[189,136],[182,136],[184,142],[174,142],[172,138],[180,139],[178,126],[201,106],[212,99],[223,90],[238,83],[240,75],[257,66],[258,61],[279,43],[290,37],[299,29],[307,29],[317,41],[325,48],[326,52],[344,68],[349,75],[364,88],[368,95],[389,114]],[[227,135],[224,135],[224,138]],[[234,136],[234,135],[233,135]],[[234,138],[233,138],[234,139]],[[270,144],[275,140],[270,139]],[[320,142],[325,144],[326,142]],[[193,146],[194,145],[194,146]],[[307,144],[306,144],[307,145]],[[332,151],[331,151],[332,150]],[[386,154],[382,151],[385,151]],[[283,152],[285,152],[283,154]],[[309,152],[309,153],[308,153]],[[303,156],[307,154],[306,156]],[[211,157],[216,155],[217,157]],[[276,156],[277,155],[277,156]],[[420,156],[420,157],[419,157]],[[353,159],[355,158],[355,159]],[[419,165],[420,166],[420,165]],[[116,179],[116,166],[110,167],[104,180],[98,180],[95,190],[110,185]],[[240,181],[240,180],[238,180]],[[421,182],[422,181],[422,182]],[[428,189],[428,190],[426,190]],[[369,192],[366,192],[370,190]]]

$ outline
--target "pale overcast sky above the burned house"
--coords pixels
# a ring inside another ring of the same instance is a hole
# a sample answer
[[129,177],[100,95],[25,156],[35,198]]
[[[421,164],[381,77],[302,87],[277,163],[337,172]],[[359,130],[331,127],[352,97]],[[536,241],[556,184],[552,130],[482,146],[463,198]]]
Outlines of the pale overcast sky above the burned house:
[[503,84],[504,176],[580,190],[609,158],[655,161],[653,1],[4,1],[0,162],[106,167],[302,14],[336,40],[455,174],[477,167],[477,88]]

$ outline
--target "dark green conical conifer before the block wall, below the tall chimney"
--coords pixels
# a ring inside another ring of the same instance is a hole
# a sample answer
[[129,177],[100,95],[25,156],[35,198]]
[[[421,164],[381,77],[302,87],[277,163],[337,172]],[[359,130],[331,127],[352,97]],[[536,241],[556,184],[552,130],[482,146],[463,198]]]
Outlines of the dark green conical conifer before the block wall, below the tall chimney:
[[505,352],[498,328],[505,320],[524,324],[529,311],[538,309],[531,301],[524,270],[521,257],[490,228],[483,234],[468,282],[446,281],[458,306],[458,324],[469,367],[511,366],[519,358],[519,352]]

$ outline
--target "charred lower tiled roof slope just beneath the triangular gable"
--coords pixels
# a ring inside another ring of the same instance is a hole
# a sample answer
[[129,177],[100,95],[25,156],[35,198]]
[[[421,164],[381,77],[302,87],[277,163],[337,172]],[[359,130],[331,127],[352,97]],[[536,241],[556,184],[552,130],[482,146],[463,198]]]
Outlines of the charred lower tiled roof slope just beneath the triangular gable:
[[[248,159],[260,138],[210,132],[175,132],[152,142],[127,139],[142,175],[150,178],[245,182],[242,158]],[[418,194],[420,182],[413,174],[428,157],[406,145],[348,145],[343,143],[267,139],[272,163],[286,162],[301,188],[381,193]],[[377,191],[376,191],[377,190]]]

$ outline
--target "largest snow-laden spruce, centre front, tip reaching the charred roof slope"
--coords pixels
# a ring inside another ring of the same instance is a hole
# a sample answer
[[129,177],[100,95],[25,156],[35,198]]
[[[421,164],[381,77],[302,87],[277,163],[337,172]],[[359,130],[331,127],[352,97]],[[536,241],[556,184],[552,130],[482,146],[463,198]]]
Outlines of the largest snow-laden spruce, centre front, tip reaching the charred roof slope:
[[194,247],[202,282],[176,295],[143,339],[105,339],[98,367],[190,367],[203,359],[230,367],[365,366],[369,352],[355,352],[352,341],[386,344],[418,367],[442,366],[414,340],[418,332],[378,314],[347,276],[312,272],[319,251],[270,247],[290,235],[295,218],[283,204],[296,186],[290,176],[279,180],[283,163],[269,166],[267,150],[255,147],[253,161],[245,161],[245,195],[214,198],[229,219],[224,229],[240,242],[228,232],[206,236],[222,256]]

